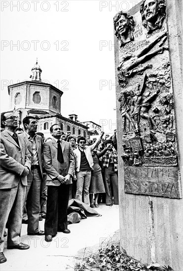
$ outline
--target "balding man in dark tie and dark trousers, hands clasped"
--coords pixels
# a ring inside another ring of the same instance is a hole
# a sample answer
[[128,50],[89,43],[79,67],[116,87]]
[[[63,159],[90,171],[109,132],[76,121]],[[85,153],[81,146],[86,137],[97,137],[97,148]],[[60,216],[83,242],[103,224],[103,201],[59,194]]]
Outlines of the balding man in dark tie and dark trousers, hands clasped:
[[70,233],[68,230],[67,208],[71,176],[74,170],[74,157],[69,142],[61,140],[58,124],[50,127],[53,139],[43,145],[43,163],[47,172],[47,210],[44,224],[45,241],[51,242],[57,232]]

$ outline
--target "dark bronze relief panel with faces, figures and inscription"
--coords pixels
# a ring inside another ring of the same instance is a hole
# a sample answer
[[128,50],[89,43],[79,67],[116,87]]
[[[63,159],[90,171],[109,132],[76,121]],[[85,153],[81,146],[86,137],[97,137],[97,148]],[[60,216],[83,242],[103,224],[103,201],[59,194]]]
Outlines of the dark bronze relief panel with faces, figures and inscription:
[[[165,0],[143,0],[133,16],[123,11],[114,16],[119,55],[118,123],[123,137],[125,192],[180,198],[167,33]],[[140,173],[136,176],[129,173],[137,169]],[[150,180],[148,174],[142,176],[150,170],[161,170],[164,175],[153,173]],[[165,171],[173,173],[166,176]]]

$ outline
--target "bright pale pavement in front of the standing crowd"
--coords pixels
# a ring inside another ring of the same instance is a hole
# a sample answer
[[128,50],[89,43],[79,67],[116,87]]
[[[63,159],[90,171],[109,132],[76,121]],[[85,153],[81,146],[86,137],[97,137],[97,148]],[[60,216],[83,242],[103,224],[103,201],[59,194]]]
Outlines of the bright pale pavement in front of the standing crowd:
[[[119,229],[118,205],[100,204],[96,210],[101,217],[88,217],[77,224],[70,224],[71,234],[58,233],[53,241],[47,243],[44,236],[27,236],[27,225],[22,225],[21,241],[30,244],[28,250],[7,250],[7,262],[0,265],[0,271],[72,271],[74,256],[78,257],[85,247],[95,246]],[[39,222],[44,230],[44,219]]]

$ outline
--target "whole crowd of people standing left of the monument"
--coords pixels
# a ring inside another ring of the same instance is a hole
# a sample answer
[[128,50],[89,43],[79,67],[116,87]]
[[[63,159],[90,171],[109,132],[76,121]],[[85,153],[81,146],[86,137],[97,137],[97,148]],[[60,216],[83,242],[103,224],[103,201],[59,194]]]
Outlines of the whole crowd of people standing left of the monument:
[[[118,204],[116,131],[93,140],[58,124],[45,139],[37,132],[37,119],[23,119],[24,130],[12,112],[1,113],[0,134],[0,263],[4,237],[7,249],[29,249],[20,241],[22,223],[27,234],[45,236],[50,242],[57,232],[69,234],[67,208],[70,199],[92,208]],[[39,221],[45,219],[44,231]],[[7,230],[6,230],[7,229]]]

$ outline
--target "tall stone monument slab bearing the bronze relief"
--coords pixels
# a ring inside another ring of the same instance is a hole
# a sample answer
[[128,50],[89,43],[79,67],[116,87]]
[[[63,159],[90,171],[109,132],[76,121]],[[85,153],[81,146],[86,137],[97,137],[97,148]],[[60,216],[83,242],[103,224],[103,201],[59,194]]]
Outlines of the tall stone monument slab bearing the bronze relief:
[[175,270],[183,268],[181,12],[181,0],[143,0],[114,16],[122,245]]

